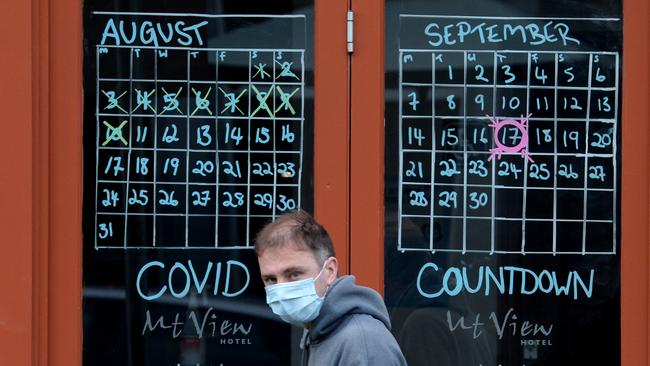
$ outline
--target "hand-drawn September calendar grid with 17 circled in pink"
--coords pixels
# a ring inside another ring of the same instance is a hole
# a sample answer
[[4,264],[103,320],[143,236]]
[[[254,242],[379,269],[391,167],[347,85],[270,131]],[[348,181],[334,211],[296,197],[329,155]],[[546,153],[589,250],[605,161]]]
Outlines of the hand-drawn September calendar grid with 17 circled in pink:
[[400,48],[399,65],[399,251],[616,253],[618,53]]

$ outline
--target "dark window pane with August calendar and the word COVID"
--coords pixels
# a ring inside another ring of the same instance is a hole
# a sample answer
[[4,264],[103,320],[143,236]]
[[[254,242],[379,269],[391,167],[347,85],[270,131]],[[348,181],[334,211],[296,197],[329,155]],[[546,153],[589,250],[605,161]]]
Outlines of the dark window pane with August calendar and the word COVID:
[[84,365],[288,365],[252,250],[312,210],[313,4],[86,1]]

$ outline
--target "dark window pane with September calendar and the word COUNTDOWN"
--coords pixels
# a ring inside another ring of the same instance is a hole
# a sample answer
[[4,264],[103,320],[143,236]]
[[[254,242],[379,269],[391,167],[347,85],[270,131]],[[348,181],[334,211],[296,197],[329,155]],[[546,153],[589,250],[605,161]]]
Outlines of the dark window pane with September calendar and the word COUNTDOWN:
[[621,3],[386,2],[409,365],[620,362]]

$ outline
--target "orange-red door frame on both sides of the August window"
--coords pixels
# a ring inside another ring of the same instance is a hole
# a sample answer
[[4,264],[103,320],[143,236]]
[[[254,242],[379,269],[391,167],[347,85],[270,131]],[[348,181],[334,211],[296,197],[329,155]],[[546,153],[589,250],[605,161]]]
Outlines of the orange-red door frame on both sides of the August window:
[[[349,272],[347,0],[315,2],[315,215]],[[0,164],[7,253],[0,284],[0,364],[82,364],[83,0],[14,2],[0,13]],[[332,21],[332,19],[337,19]],[[56,31],[54,31],[56,30]],[[341,148],[341,142],[344,148]],[[9,210],[11,208],[11,210]]]

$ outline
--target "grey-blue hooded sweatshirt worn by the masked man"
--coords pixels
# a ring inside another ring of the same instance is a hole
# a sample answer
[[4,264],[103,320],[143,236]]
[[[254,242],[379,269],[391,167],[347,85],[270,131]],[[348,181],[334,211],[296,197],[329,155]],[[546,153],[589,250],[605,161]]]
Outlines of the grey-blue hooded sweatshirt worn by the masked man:
[[390,333],[384,301],[374,290],[357,286],[353,276],[340,277],[329,288],[300,348],[302,365],[406,365]]

